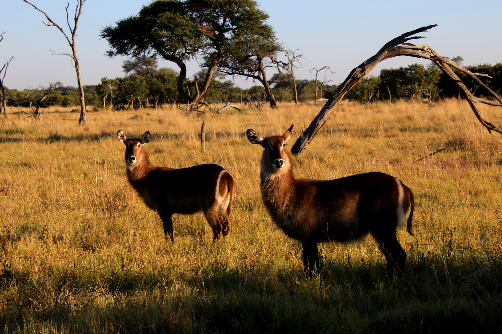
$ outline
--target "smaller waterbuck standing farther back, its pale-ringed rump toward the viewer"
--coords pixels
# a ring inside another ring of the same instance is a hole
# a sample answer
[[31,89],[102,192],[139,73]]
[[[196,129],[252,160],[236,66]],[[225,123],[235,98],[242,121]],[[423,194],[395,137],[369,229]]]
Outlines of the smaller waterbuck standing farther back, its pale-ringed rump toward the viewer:
[[164,233],[173,238],[173,213],[204,212],[213,229],[214,240],[230,231],[230,211],[235,192],[233,178],[215,164],[188,168],[156,167],[148,159],[143,145],[150,141],[150,132],[130,139],[122,130],[117,138],[126,144],[126,167],[129,183],[145,204],[157,211],[164,223]]

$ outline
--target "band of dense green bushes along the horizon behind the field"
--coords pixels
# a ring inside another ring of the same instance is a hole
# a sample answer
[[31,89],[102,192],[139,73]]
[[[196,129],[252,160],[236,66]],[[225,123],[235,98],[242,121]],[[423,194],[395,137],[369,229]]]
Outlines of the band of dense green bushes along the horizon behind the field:
[[[496,93],[502,88],[502,63],[496,65],[476,65],[467,67],[473,73],[482,73],[489,77],[479,76],[480,80]],[[457,76],[477,96],[486,96],[484,89],[466,74],[454,70]],[[197,76],[203,78],[202,75]],[[263,86],[253,86],[249,89],[236,87],[230,80],[224,81],[224,76],[212,79],[209,89],[203,96],[208,103],[240,103],[247,99],[264,100],[266,97]],[[156,70],[153,74],[140,76],[133,74],[123,78],[102,78],[98,85],[84,86],[85,101],[95,107],[144,108],[157,107],[163,104],[183,103],[176,89],[178,73],[171,69]],[[203,80],[197,82],[201,87]],[[290,75],[276,74],[269,80],[277,101],[293,101],[294,86]],[[318,98],[330,98],[336,91],[336,85],[318,84]],[[314,80],[297,80],[298,100],[311,101],[315,98]],[[185,80],[184,86],[193,94],[193,80]],[[31,101],[33,105],[42,97],[39,91],[6,90],[7,105],[25,107]],[[399,69],[384,69],[379,77],[366,77],[359,81],[345,98],[360,103],[389,99],[416,99],[429,101],[458,95],[458,90],[436,66],[424,67],[412,64]],[[61,87],[51,92],[41,103],[42,108],[49,106],[78,106],[78,90],[73,87]]]

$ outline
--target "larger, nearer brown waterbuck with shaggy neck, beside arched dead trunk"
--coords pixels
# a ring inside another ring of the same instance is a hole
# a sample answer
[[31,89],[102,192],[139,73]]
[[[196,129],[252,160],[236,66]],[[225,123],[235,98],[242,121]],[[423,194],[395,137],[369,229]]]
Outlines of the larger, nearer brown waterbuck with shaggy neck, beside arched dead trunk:
[[408,217],[412,232],[413,193],[400,179],[372,172],[320,181],[295,179],[286,143],[293,125],[282,136],[262,137],[248,129],[247,138],[265,149],[262,155],[262,198],[274,222],[286,235],[300,240],[305,271],[319,267],[319,241],[358,239],[373,235],[387,259],[387,271],[404,273],[406,252],[396,230]]

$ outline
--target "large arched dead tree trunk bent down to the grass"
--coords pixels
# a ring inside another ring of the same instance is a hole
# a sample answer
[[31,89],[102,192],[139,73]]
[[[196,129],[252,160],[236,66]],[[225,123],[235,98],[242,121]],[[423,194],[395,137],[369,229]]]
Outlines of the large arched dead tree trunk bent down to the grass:
[[[393,58],[396,56],[410,56],[422,59],[429,59],[434,64],[436,64],[445,75],[447,75],[453,84],[458,88],[460,93],[465,97],[471,106],[474,115],[476,115],[479,122],[491,133],[491,131],[498,132],[502,134],[502,129],[493,125],[492,123],[486,121],[481,116],[479,109],[477,108],[477,103],[484,103],[491,106],[502,107],[502,98],[498,96],[495,92],[489,89],[485,84],[479,80],[477,77],[478,73],[472,73],[467,69],[459,66],[458,64],[450,61],[446,57],[439,56],[432,48],[430,48],[427,44],[423,45],[413,45],[407,43],[410,40],[422,39],[424,37],[421,36],[413,36],[417,33],[425,32],[431,28],[436,27],[436,25],[431,25],[427,27],[422,27],[416,29],[414,31],[405,33],[399,37],[396,37],[389,43],[387,43],[378,53],[376,53],[373,57],[364,61],[361,65],[353,69],[349,76],[345,79],[345,81],[338,87],[335,94],[331,99],[326,102],[324,107],[322,107],[319,114],[314,118],[314,120],[310,123],[308,128],[300,135],[300,137],[296,140],[295,144],[291,148],[291,153],[300,154],[305,149],[307,149],[309,143],[314,139],[314,136],[317,132],[322,128],[322,126],[326,123],[329,115],[331,114],[331,110],[333,107],[343,98],[343,96],[359,82],[364,76],[366,76],[375,66],[381,61],[389,58]],[[481,87],[483,87],[496,101],[489,101],[483,98],[475,97],[465,86],[465,84],[458,78],[458,76],[453,72],[451,68],[456,68],[457,70],[467,74],[472,77],[474,81],[476,81]]]

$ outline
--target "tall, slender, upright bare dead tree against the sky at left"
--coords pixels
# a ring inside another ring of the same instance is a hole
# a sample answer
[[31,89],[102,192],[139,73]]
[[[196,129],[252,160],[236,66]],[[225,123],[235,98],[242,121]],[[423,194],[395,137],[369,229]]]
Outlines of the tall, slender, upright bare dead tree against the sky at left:
[[76,0],[77,6],[75,7],[75,15],[73,16],[73,28],[70,25],[70,17],[68,15],[68,7],[70,7],[70,3],[68,3],[68,5],[66,6],[66,23],[68,24],[68,29],[70,30],[71,39],[68,37],[68,35],[66,35],[65,31],[59,25],[57,25],[54,21],[52,21],[49,18],[49,16],[44,11],[40,10],[35,5],[33,5],[32,3],[30,3],[26,0],[23,0],[23,1],[25,3],[33,6],[33,8],[35,8],[37,11],[39,11],[40,13],[45,15],[48,22],[45,23],[42,21],[42,23],[44,25],[46,25],[48,27],[56,27],[66,38],[66,41],[68,42],[68,45],[71,48],[71,54],[59,54],[59,53],[56,53],[52,50],[49,50],[49,51],[51,51],[53,53],[53,55],[69,56],[73,60],[73,67],[75,68],[75,72],[77,74],[78,90],[80,92],[80,118],[78,119],[78,124],[85,124],[86,121],[85,121],[84,88],[82,85],[82,79],[80,78],[80,64],[78,62],[77,52],[76,52],[76,48],[75,48],[75,36],[77,36],[76,32],[77,32],[78,20],[80,19],[80,15],[82,14],[82,6],[84,5],[85,0]]

